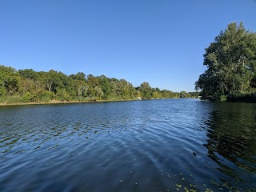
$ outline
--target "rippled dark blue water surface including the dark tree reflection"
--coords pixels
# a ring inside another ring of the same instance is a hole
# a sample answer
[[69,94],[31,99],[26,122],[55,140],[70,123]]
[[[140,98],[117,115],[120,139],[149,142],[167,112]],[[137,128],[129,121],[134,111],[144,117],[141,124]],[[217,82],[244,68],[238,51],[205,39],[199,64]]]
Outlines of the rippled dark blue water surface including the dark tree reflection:
[[0,106],[1,191],[256,191],[256,105]]

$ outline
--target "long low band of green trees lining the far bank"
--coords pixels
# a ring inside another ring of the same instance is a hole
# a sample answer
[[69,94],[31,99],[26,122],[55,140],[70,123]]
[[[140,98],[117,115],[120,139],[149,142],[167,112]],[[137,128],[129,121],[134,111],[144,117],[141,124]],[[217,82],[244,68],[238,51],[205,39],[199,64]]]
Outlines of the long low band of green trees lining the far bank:
[[175,93],[152,88],[148,82],[134,87],[125,79],[107,78],[79,72],[66,75],[55,70],[15,70],[0,66],[0,103],[86,102],[95,100],[130,100],[141,98],[190,98],[197,92]]

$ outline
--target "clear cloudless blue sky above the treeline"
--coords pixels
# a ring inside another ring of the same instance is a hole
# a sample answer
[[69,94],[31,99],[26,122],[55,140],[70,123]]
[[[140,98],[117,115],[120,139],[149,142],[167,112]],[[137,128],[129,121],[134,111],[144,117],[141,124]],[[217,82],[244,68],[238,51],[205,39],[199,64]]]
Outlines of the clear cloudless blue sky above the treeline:
[[0,0],[0,65],[194,91],[204,49],[255,0]]

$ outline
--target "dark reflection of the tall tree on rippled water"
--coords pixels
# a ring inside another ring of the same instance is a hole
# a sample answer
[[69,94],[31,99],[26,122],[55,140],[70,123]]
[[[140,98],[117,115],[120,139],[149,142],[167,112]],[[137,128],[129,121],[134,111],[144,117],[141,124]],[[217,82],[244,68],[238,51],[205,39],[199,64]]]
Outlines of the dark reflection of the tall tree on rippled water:
[[[208,157],[229,176],[222,182],[254,186],[256,173],[256,106],[247,103],[216,103],[207,133]],[[247,184],[246,184],[247,183]]]

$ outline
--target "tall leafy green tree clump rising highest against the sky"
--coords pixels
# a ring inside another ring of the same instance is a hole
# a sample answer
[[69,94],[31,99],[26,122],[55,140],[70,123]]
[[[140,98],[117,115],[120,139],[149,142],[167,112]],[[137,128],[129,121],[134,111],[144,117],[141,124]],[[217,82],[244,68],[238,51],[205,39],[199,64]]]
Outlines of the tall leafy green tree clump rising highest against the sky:
[[256,34],[232,22],[206,48],[207,70],[195,82],[202,98],[256,102]]

